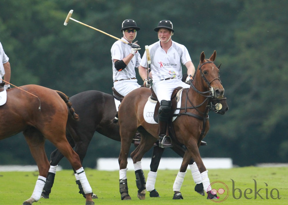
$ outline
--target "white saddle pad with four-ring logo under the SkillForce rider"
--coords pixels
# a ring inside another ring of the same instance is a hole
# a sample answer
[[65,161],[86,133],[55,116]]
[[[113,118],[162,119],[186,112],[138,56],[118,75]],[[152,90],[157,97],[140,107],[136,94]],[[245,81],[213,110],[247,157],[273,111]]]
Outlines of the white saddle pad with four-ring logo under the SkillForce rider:
[[[181,107],[181,96],[182,96],[182,90],[181,89],[178,94],[177,97],[179,100],[177,100],[177,107]],[[150,98],[150,97],[149,97]],[[143,117],[144,120],[150,124],[158,124],[155,120],[154,120],[154,111],[155,111],[155,107],[156,107],[156,101],[155,102],[151,102],[152,100],[148,99],[145,106],[144,106],[144,110],[143,110]],[[180,112],[180,110],[175,110],[174,114],[178,114]],[[172,118],[172,122],[176,119],[177,116]]]

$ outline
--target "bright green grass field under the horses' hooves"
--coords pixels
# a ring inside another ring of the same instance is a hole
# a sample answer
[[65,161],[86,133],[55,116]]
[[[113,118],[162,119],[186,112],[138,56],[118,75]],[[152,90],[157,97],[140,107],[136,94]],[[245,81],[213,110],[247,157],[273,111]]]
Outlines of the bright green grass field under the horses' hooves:
[[[220,200],[222,200],[220,204],[288,204],[288,167],[211,169],[208,172],[208,176],[212,189],[223,188],[225,190],[224,194],[218,194],[220,199],[217,201],[207,200],[207,195],[201,196],[194,191],[195,184],[190,169],[187,169],[181,188],[183,200],[172,199],[174,194],[173,183],[177,170],[158,171],[155,188],[161,197],[150,198],[148,192],[146,193],[145,201],[137,198],[135,174],[132,170],[128,170],[127,173],[129,194],[132,198],[130,201],[120,200],[118,171],[106,172],[85,169],[85,172],[93,192],[99,197],[94,199],[94,202],[101,205],[215,204],[220,202]],[[148,171],[144,170],[144,173],[147,177]],[[23,201],[31,196],[37,176],[38,172],[0,172],[0,204],[22,204]],[[227,194],[228,191],[229,194]],[[223,201],[223,199],[225,200]],[[33,204],[85,204],[85,199],[78,194],[78,186],[75,183],[73,171],[62,170],[56,174],[50,199],[40,199]]]

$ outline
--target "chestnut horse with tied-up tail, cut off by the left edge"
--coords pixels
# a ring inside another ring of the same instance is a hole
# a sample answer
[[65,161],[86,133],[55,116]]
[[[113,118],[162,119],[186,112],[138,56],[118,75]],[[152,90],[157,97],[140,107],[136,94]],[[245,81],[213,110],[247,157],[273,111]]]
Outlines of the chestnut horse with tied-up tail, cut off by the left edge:
[[[4,83],[1,85],[0,91]],[[77,170],[81,184],[86,187],[86,204],[94,204],[92,189],[79,156],[66,139],[68,109],[69,117],[78,119],[69,98],[60,91],[39,85],[24,85],[7,90],[7,101],[0,106],[0,140],[23,132],[39,169],[35,189],[32,196],[23,202],[25,205],[40,199],[46,182],[50,164],[44,149],[45,139],[52,142]]]

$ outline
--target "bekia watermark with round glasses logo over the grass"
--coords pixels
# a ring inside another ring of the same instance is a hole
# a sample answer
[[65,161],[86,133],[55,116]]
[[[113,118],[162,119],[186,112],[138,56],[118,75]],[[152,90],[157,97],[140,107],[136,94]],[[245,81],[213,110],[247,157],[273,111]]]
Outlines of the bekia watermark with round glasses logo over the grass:
[[259,186],[259,184],[257,184],[257,181],[253,179],[254,187],[240,189],[237,187],[233,179],[231,179],[231,181],[232,190],[229,190],[228,186],[224,182],[212,182],[208,188],[212,188],[212,194],[217,194],[217,199],[213,198],[210,200],[217,203],[225,201],[229,195],[231,197],[230,192],[232,192],[233,199],[241,199],[242,197],[244,197],[245,199],[281,199],[279,190],[276,188],[269,188],[266,182],[264,182],[265,188],[262,188],[262,186]]

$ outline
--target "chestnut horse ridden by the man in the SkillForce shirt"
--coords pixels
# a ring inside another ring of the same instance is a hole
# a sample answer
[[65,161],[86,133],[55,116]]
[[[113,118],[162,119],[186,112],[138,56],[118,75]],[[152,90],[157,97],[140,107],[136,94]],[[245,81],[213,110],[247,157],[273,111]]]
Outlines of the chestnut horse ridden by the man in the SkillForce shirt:
[[[190,88],[182,91],[181,109],[179,116],[173,122],[176,138],[173,143],[185,145],[187,151],[183,157],[180,172],[187,169],[192,158],[199,168],[204,190],[208,198],[216,195],[211,193],[210,181],[207,170],[200,157],[199,149],[201,140],[209,130],[207,120],[207,105],[213,95],[215,98],[223,98],[224,88],[219,79],[219,68],[214,64],[216,51],[209,59],[205,59],[204,52],[200,55],[200,63]],[[125,96],[119,106],[119,125],[121,136],[121,151],[119,155],[120,167],[120,194],[122,200],[131,199],[128,194],[126,167],[129,148],[136,130],[141,133],[140,145],[131,153],[135,167],[138,198],[145,199],[145,177],[141,167],[143,155],[153,146],[158,139],[158,125],[149,124],[144,120],[143,109],[150,96],[150,89],[138,88]],[[204,121],[206,121],[204,126]],[[175,193],[177,194],[177,193]]]

